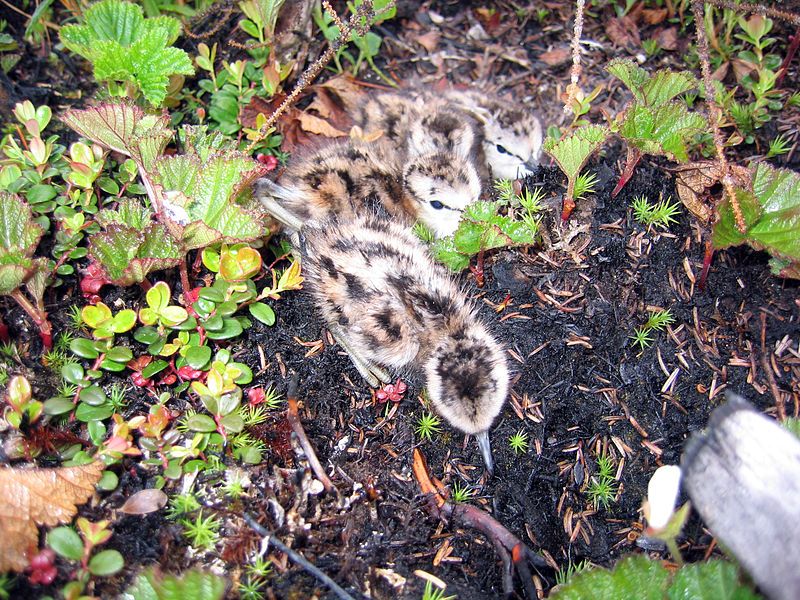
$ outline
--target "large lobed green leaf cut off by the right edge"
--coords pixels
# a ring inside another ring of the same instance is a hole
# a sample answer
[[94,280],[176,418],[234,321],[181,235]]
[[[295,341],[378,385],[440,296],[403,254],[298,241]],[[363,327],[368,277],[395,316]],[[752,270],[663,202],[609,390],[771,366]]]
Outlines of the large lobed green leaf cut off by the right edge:
[[[800,175],[759,163],[753,171],[753,189],[737,189],[745,233],[736,228],[733,208],[726,198],[714,226],[715,248],[748,244],[785,261],[787,276],[800,266]],[[794,265],[794,266],[792,266]]]

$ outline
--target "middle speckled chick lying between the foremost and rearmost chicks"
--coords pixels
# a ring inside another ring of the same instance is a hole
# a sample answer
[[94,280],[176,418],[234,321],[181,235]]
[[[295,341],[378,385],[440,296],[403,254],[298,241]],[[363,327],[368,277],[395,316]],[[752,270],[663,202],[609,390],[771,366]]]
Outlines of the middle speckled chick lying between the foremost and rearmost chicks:
[[409,225],[420,220],[437,237],[450,235],[480,196],[480,178],[455,145],[425,150],[409,154],[383,142],[333,143],[295,161],[280,184],[259,180],[256,195],[293,231],[334,214],[377,213]]

